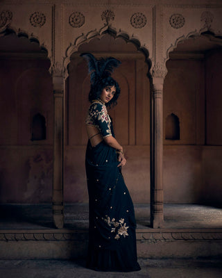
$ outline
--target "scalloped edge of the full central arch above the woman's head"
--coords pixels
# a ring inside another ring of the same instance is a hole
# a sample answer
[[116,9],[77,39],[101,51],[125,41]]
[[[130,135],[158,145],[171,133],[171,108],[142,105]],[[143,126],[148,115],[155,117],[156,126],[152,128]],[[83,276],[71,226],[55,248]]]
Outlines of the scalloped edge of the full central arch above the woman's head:
[[[119,31],[116,31],[114,28],[110,26],[105,26],[101,28],[101,30],[99,31],[92,30],[89,31],[87,34],[82,33],[82,35],[80,35],[74,40],[74,44],[69,45],[69,47],[66,50],[64,63],[63,63],[65,69],[65,78],[69,76],[68,65],[70,63],[71,55],[74,54],[74,52],[78,51],[78,47],[80,47],[80,44],[83,44],[85,42],[90,42],[90,40],[96,37],[101,38],[101,36],[105,34],[112,35],[114,38],[122,38],[126,42],[132,42],[135,45],[135,47],[137,47],[137,50],[141,51],[144,54],[145,62],[148,64],[149,71],[151,70],[152,63],[151,63],[151,59],[149,58],[149,51],[148,49],[146,49],[146,47],[141,45],[139,40],[135,38],[134,35],[130,36],[128,35],[127,32],[121,31],[121,29],[119,29]],[[148,75],[149,74],[150,73],[148,72]]]

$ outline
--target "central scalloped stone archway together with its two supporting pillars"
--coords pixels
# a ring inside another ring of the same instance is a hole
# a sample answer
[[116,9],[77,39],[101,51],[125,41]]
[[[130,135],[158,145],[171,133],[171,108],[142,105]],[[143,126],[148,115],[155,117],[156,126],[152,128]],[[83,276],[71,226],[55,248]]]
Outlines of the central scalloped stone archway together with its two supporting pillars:
[[[74,54],[76,51],[78,51],[78,47],[80,44],[83,44],[83,42],[89,42],[92,38],[101,37],[102,35],[108,33],[109,35],[112,35],[114,38],[122,38],[123,40],[127,42],[132,42],[135,44],[137,49],[139,51],[142,51],[142,53],[145,56],[145,61],[148,63],[149,71],[148,71],[148,78],[151,79],[151,60],[148,57],[148,50],[141,46],[139,40],[135,39],[134,37],[130,38],[130,36],[127,33],[124,33],[123,31],[115,31],[110,26],[103,27],[99,32],[98,31],[91,31],[87,33],[87,35],[81,35],[79,38],[76,38],[74,44],[71,44],[71,46],[66,51],[66,58],[64,60],[64,71],[65,71],[65,79],[67,79],[68,76],[68,70],[67,67],[70,62],[70,57],[72,54]],[[153,72],[155,73],[155,76],[159,76],[160,72],[162,70],[160,69],[159,65],[153,68]],[[63,179],[64,179],[64,142],[63,142],[63,122],[64,122],[64,113],[62,107],[64,107],[64,95],[62,92],[62,86],[65,88],[65,79],[63,80],[63,85],[60,83],[60,101],[58,98],[58,104],[55,102],[55,130],[57,134],[60,134],[59,138],[56,138],[54,135],[54,140],[56,140],[56,145],[54,145],[54,173],[56,176],[53,178],[54,180],[54,188],[53,191],[55,193],[56,198],[53,199],[53,216],[54,216],[54,222],[56,224],[56,227],[62,227],[63,226]],[[151,79],[152,82],[152,79]],[[151,86],[151,88],[153,88]],[[162,106],[159,107],[159,102],[162,101],[160,99],[159,94],[160,88],[155,86],[153,89],[153,94],[151,98],[154,97],[155,101],[151,101],[151,225],[152,227],[160,227],[163,222],[163,198],[162,198],[162,167],[153,167],[153,165],[162,165],[162,146],[161,146],[161,140],[157,142],[157,138],[160,138],[160,135],[162,134],[162,120],[161,119],[161,113],[162,113]],[[63,95],[63,97],[62,97]],[[160,99],[160,101],[159,101]],[[62,104],[63,103],[63,104]],[[58,107],[60,108],[58,108]],[[154,109],[153,109],[154,107]],[[58,111],[59,109],[59,111]],[[160,113],[158,112],[160,111]],[[155,113],[154,113],[155,112]],[[58,124],[59,122],[59,124]],[[56,127],[57,126],[57,127]],[[59,126],[59,128],[58,128]],[[153,137],[153,133],[156,134],[156,136]],[[62,134],[62,136],[61,136]],[[153,147],[155,145],[155,148]],[[155,150],[154,150],[155,149]],[[57,161],[57,162],[55,162]],[[55,170],[56,169],[56,170]],[[155,177],[158,176],[159,179],[155,179]],[[157,184],[160,182],[160,186],[157,186]],[[56,209],[56,206],[58,206],[58,209]],[[57,212],[56,212],[57,211]],[[57,219],[57,220],[56,220]]]

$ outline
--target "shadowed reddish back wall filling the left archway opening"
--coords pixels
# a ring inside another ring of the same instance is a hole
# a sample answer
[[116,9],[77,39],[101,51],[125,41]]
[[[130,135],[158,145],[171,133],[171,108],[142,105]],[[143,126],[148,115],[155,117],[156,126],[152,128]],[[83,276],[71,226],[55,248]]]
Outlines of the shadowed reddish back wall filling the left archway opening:
[[[2,185],[7,190],[1,192],[0,202],[51,202],[53,136],[51,142],[31,141],[32,117],[38,112],[53,131],[50,63],[48,51],[34,35],[13,28],[1,30],[0,155],[5,173]],[[51,106],[47,105],[50,97]]]

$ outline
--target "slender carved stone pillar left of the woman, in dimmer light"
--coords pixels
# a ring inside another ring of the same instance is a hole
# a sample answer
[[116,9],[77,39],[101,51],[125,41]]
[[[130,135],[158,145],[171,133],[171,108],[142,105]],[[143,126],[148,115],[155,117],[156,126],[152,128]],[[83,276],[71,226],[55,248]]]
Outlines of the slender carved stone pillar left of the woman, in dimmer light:
[[53,76],[53,222],[58,229],[64,225],[64,79]]

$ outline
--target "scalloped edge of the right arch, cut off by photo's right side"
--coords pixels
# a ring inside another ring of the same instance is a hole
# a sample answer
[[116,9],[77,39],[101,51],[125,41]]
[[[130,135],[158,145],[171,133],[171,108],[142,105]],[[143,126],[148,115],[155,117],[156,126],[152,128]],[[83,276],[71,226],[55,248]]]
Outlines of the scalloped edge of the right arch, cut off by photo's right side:
[[201,35],[203,35],[205,33],[210,33],[212,36],[214,36],[214,38],[220,38],[221,39],[221,44],[222,44],[221,33],[217,34],[211,28],[210,29],[209,28],[201,28],[200,31],[197,31],[197,30],[191,31],[191,32],[187,33],[187,35],[182,35],[181,37],[177,38],[176,41],[174,42],[174,44],[171,44],[171,46],[167,49],[167,53],[166,53],[167,57],[164,58],[165,64],[166,64],[167,60],[169,60],[169,53],[171,51],[173,51],[174,49],[176,49],[179,42],[185,41],[185,40],[187,40],[191,37],[200,37]]

